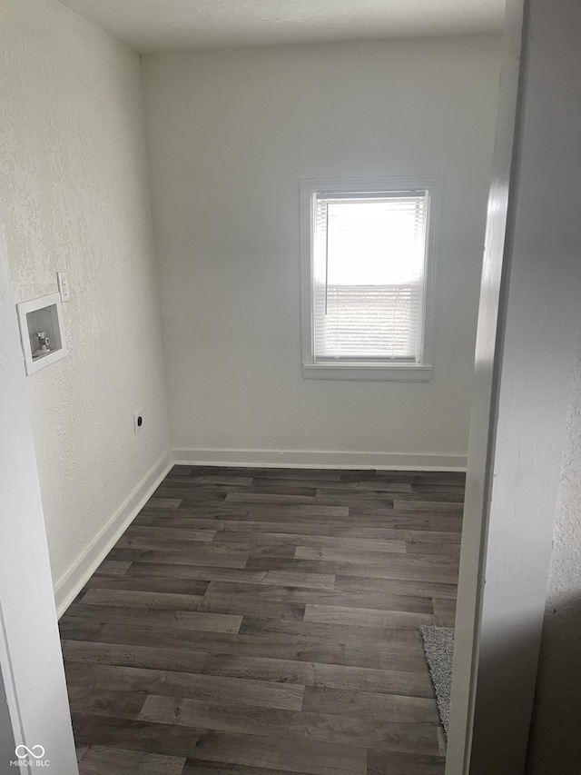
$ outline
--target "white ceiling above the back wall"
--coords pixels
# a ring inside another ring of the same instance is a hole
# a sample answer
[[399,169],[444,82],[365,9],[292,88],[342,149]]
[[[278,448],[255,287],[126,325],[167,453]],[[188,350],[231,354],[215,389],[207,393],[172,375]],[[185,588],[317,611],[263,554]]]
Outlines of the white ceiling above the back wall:
[[499,32],[505,0],[60,0],[140,53]]

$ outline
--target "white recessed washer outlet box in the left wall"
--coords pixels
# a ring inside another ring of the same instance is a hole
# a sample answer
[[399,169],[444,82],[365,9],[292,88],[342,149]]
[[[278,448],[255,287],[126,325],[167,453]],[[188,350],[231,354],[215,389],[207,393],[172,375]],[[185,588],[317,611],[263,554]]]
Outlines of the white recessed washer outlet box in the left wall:
[[68,353],[59,293],[16,304],[27,374],[34,374]]

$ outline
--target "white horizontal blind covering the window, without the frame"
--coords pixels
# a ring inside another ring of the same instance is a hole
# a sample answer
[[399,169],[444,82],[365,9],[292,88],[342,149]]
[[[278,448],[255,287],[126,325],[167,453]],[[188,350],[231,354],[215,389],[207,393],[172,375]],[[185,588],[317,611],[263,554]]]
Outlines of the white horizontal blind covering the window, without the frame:
[[419,362],[428,197],[315,195],[315,363]]

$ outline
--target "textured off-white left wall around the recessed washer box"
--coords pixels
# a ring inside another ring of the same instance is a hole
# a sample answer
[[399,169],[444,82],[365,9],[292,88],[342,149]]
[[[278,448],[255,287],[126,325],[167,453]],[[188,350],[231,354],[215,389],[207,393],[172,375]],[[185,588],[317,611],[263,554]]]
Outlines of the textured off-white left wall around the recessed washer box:
[[58,581],[169,444],[140,61],[52,0],[3,0],[0,50],[15,301],[53,293],[57,270],[72,293],[68,358],[26,380]]

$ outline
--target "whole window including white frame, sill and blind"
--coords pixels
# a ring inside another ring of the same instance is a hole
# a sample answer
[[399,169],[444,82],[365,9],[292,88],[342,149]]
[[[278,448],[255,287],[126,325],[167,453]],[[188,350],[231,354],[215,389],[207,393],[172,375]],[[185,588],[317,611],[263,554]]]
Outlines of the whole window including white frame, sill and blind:
[[303,182],[305,377],[430,378],[437,193],[432,178]]

